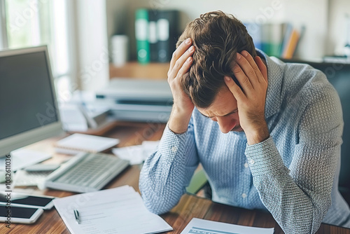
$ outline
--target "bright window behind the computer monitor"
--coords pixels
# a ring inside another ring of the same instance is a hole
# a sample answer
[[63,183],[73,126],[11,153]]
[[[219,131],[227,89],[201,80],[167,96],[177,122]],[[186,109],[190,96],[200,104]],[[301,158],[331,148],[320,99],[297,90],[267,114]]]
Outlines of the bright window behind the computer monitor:
[[69,40],[68,9],[69,0],[0,0],[6,9],[2,11],[6,19],[8,48],[23,48],[47,45],[55,78],[58,99],[60,93],[71,91],[71,48]]

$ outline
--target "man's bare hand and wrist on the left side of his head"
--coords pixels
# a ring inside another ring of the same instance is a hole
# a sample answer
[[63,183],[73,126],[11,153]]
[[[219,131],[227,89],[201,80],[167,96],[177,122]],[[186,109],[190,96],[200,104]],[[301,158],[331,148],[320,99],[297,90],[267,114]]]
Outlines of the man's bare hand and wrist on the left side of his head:
[[181,78],[190,69],[195,52],[195,46],[191,46],[191,39],[186,39],[175,50],[170,61],[168,71],[168,83],[172,90],[174,105],[169,118],[168,126],[175,133],[186,132],[193,108],[195,107],[185,92],[181,88]]

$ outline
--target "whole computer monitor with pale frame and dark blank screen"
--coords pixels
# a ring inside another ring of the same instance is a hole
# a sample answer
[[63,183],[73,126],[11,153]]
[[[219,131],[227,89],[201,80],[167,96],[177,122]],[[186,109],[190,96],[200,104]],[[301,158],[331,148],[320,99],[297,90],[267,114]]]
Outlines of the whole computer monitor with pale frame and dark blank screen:
[[0,51],[0,157],[62,131],[47,47]]

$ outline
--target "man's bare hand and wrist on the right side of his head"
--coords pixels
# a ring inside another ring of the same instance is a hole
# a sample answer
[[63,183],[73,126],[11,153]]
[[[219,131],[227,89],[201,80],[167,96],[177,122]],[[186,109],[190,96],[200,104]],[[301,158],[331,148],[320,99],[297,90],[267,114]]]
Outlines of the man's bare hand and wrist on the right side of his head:
[[237,53],[236,61],[232,71],[243,90],[229,76],[225,83],[237,99],[239,122],[248,144],[257,144],[269,137],[265,121],[267,68],[260,57],[253,59],[245,50]]

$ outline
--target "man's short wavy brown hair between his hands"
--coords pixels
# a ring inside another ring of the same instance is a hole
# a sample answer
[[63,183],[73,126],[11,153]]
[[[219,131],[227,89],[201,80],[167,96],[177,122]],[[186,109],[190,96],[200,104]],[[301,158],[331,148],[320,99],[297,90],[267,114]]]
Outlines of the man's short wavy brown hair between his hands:
[[202,14],[190,22],[176,48],[188,38],[193,41],[195,53],[181,85],[195,106],[207,108],[225,85],[224,76],[231,76],[239,85],[232,73],[236,53],[246,50],[255,57],[253,39],[241,21],[222,11]]

